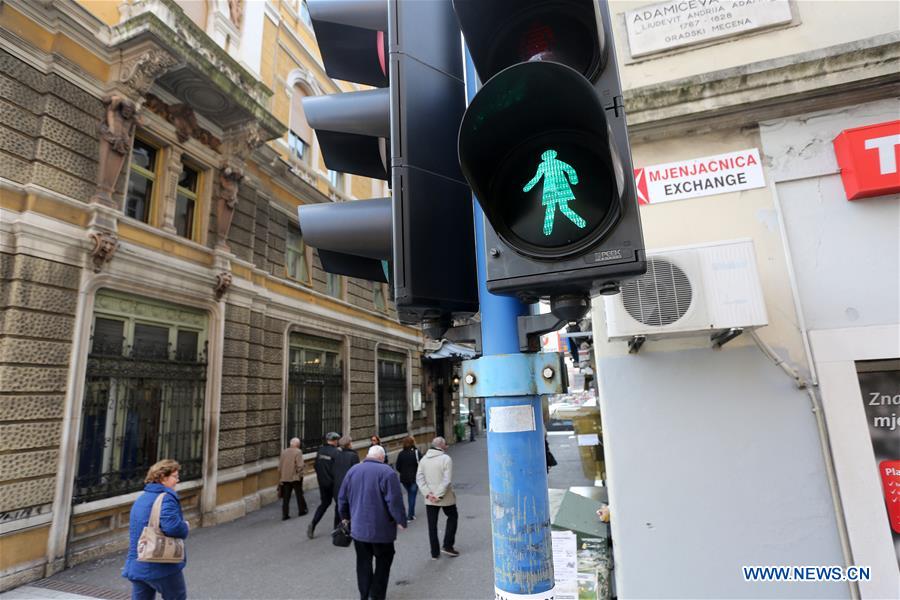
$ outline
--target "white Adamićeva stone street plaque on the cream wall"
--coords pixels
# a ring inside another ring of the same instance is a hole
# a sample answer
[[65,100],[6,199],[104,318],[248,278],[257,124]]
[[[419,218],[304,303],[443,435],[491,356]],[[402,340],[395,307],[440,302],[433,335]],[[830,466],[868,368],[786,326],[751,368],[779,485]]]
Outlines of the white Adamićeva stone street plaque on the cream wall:
[[789,0],[672,0],[625,12],[632,57],[790,23]]

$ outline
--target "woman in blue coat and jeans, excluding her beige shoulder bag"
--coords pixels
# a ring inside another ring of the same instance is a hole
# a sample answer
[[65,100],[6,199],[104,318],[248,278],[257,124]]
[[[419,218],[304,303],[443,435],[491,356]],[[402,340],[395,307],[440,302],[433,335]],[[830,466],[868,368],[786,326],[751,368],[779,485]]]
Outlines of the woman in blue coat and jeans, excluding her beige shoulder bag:
[[128,555],[122,577],[131,581],[132,600],[153,600],[156,594],[163,600],[184,600],[187,598],[187,586],[182,570],[187,563],[187,555],[181,562],[160,563],[138,560],[138,540],[147,524],[153,506],[160,495],[162,506],[159,511],[159,528],[167,537],[185,539],[190,525],[181,514],[181,501],[175,486],[178,485],[181,465],[172,459],[161,460],[147,471],[144,478],[144,493],[138,496],[131,507],[129,519]]

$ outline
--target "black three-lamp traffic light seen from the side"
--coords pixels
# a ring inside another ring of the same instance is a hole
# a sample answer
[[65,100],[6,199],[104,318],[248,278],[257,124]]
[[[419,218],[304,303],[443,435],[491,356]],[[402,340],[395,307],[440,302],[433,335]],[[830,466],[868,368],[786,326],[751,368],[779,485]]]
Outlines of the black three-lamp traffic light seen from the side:
[[[303,99],[329,169],[391,182],[391,198],[300,207],[334,273],[375,279],[387,249],[400,320],[478,310],[471,191],[456,141],[465,111],[450,0],[309,0],[329,77],[374,90]],[[372,205],[366,214],[350,205]],[[390,215],[391,228],[384,227]]]

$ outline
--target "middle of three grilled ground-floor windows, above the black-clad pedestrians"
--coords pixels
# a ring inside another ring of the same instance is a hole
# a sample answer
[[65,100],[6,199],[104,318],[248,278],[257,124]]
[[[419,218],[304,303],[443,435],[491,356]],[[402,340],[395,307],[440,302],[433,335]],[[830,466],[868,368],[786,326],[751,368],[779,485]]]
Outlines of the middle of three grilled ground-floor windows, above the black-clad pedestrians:
[[326,433],[343,428],[341,342],[293,333],[288,361],[284,438],[299,437],[303,451],[311,452],[322,445]]

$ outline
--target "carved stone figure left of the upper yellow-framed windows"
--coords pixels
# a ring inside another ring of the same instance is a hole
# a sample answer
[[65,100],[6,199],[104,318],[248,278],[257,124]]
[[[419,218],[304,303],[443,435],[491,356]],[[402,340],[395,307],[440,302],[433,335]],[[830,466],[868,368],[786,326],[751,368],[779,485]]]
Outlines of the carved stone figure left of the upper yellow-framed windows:
[[104,96],[103,104],[106,106],[106,117],[100,124],[97,191],[91,202],[116,208],[112,194],[125,159],[131,152],[138,122],[137,105],[117,94]]

